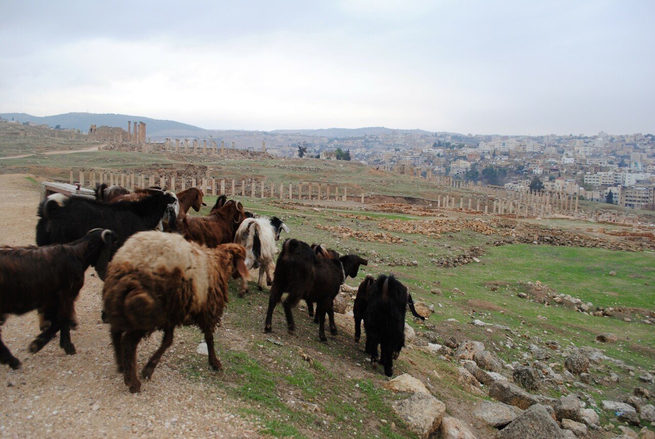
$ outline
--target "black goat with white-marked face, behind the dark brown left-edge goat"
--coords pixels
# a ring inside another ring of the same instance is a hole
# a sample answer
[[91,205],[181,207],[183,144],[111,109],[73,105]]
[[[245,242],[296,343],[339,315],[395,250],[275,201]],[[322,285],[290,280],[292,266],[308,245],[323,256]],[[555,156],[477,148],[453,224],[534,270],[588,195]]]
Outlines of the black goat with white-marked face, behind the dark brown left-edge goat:
[[164,216],[170,217],[167,206],[176,201],[170,193],[157,189],[138,200],[111,203],[53,194],[39,204],[37,245],[65,244],[80,239],[91,229],[101,228],[117,233],[119,248],[134,233],[152,230]]

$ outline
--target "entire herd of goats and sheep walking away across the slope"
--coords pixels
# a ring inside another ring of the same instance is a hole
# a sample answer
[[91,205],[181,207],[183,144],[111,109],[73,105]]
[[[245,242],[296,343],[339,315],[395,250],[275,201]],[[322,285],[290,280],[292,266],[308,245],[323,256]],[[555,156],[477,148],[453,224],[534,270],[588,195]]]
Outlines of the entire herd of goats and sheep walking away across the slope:
[[[287,328],[295,329],[291,309],[307,302],[326,341],[325,317],[337,334],[333,300],[346,277],[355,278],[365,259],[339,256],[322,244],[311,246],[287,239],[278,253],[276,240],[289,228],[279,218],[255,216],[235,200],[221,195],[210,214],[198,212],[203,193],[191,187],[173,193],[151,187],[129,191],[98,185],[96,197],[59,193],[42,200],[38,208],[37,246],[0,246],[0,325],[8,314],[37,310],[41,333],[29,344],[36,353],[57,333],[66,354],[75,354],[71,328],[77,328],[75,299],[84,284],[84,272],[96,269],[104,284],[102,320],[110,326],[119,373],[130,392],[139,392],[136,349],[146,335],[162,330],[159,349],[151,356],[141,378],[149,379],[173,341],[176,326],[195,324],[207,343],[209,364],[222,365],[214,350],[214,332],[228,301],[229,278],[241,278],[239,296],[248,290],[250,269],[259,268],[271,286],[265,332],[272,331],[272,313],[282,299]],[[314,304],[316,313],[314,314]],[[392,360],[405,342],[407,305],[418,315],[407,288],[393,275],[367,275],[354,302],[355,339],[364,320],[365,351],[371,365],[384,366],[391,376]],[[1,333],[0,333],[1,334]],[[381,353],[378,353],[380,346]],[[0,363],[20,368],[0,338]]]

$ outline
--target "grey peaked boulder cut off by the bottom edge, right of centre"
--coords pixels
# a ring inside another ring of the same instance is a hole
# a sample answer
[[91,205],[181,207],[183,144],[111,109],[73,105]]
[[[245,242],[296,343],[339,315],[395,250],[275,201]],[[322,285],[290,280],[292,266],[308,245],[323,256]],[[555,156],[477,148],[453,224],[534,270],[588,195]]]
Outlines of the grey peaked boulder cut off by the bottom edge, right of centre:
[[561,439],[559,425],[550,417],[546,408],[534,404],[523,411],[510,425],[500,430],[499,439]]

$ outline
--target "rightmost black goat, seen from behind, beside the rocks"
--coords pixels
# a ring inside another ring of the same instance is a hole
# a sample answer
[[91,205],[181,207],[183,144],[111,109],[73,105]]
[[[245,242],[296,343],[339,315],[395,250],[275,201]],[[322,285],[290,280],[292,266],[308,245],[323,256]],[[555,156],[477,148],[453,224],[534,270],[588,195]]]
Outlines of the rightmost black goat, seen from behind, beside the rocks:
[[[368,284],[370,279],[366,278],[364,282]],[[365,288],[365,291],[365,352],[371,355],[371,366],[375,369],[380,362],[384,366],[384,374],[390,377],[394,373],[393,360],[398,358],[400,350],[405,346],[405,313],[409,290],[396,280],[394,275],[380,275]],[[360,290],[358,296],[359,293]],[[356,324],[356,332],[358,332],[357,326]],[[378,345],[381,350],[380,356],[377,351]]]

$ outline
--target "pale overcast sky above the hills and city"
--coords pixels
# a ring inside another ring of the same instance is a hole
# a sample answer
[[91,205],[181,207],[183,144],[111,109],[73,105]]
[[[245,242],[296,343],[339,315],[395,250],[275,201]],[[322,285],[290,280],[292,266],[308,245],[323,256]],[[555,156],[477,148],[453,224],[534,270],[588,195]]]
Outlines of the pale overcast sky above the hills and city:
[[655,2],[0,0],[0,112],[655,132]]

